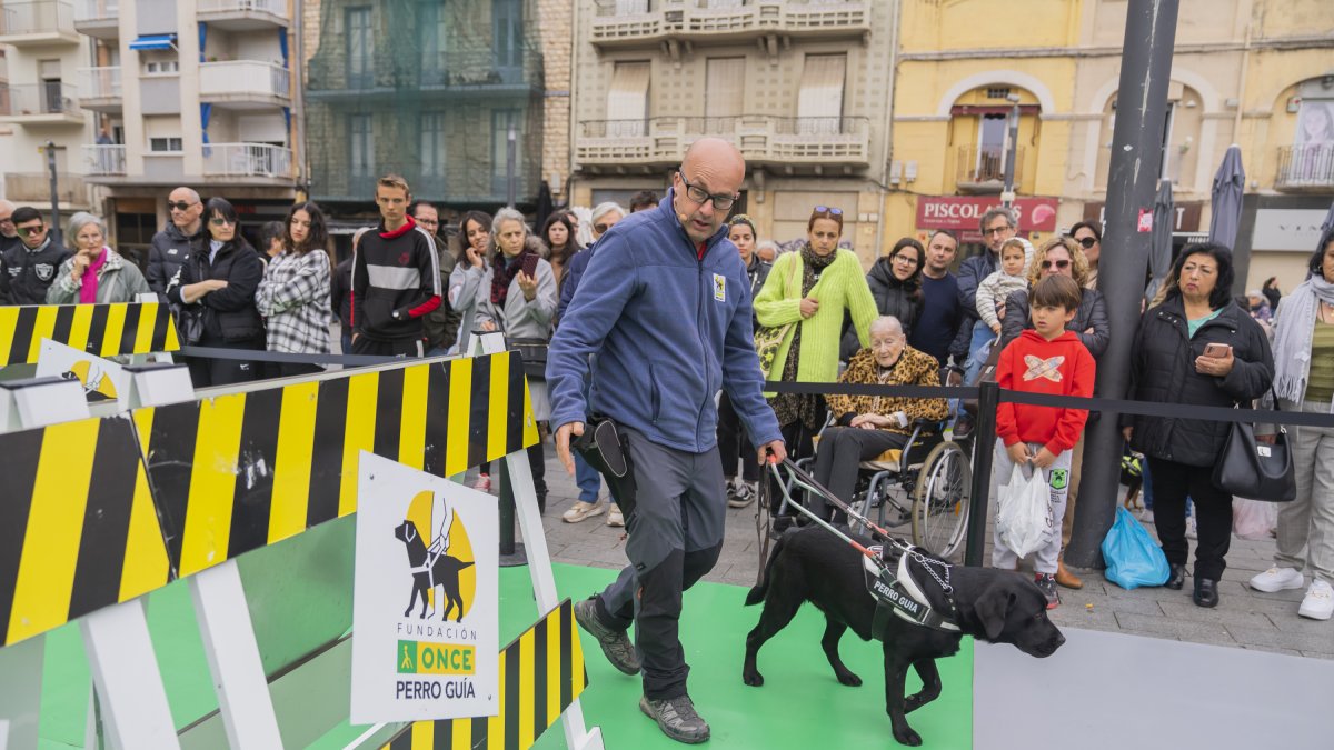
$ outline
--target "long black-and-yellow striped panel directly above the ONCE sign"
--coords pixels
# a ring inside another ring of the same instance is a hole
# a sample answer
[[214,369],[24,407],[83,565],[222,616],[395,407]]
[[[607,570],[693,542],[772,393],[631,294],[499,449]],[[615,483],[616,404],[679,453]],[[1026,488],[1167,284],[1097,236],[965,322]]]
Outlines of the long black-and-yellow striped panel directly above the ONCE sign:
[[133,420],[180,577],[354,512],[363,450],[451,476],[538,442],[512,352],[141,408]]

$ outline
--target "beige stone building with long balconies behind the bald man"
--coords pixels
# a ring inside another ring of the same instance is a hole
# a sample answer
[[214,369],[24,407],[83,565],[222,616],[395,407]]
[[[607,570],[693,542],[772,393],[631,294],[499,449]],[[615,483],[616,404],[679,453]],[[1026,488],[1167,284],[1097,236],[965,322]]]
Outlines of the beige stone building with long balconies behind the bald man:
[[[576,0],[575,204],[662,192],[686,148],[720,136],[747,164],[738,212],[804,238],[819,204],[870,264],[884,246],[894,3]],[[892,242],[892,240],[890,240]]]

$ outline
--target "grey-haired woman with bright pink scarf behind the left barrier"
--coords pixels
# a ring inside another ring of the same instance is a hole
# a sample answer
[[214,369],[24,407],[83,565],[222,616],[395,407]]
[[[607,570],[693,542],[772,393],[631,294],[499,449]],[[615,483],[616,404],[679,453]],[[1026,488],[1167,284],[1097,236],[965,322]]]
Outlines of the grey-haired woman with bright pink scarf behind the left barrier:
[[56,280],[47,290],[47,304],[105,304],[135,302],[152,294],[139,267],[107,246],[107,224],[83,211],[69,218],[65,238],[75,254],[60,264]]

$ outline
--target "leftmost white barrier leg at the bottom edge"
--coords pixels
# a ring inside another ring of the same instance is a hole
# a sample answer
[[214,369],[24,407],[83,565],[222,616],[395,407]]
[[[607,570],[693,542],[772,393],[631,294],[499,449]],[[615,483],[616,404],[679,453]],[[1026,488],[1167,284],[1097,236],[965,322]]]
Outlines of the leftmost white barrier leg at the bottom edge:
[[112,747],[180,747],[143,599],[79,621]]

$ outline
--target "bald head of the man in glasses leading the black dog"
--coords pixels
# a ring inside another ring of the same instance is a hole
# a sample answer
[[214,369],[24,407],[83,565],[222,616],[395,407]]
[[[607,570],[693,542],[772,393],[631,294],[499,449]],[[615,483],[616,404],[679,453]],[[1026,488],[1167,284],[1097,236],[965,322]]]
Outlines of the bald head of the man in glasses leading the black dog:
[[[672,208],[692,242],[702,243],[718,232],[744,180],[746,159],[730,141],[702,137],[690,145],[672,177]],[[718,200],[727,208],[718,208]]]

